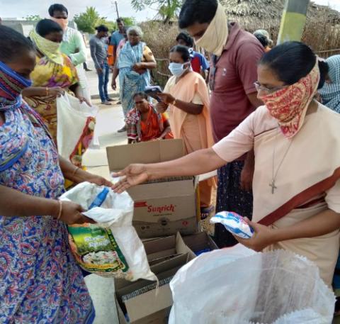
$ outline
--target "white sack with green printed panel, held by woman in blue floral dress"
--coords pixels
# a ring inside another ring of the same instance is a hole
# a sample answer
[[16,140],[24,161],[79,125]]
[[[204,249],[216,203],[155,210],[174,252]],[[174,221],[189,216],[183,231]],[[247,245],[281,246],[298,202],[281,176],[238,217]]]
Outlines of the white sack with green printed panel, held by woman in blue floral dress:
[[[60,197],[62,201],[79,203],[88,210],[103,186],[83,182]],[[144,245],[132,226],[133,201],[127,192],[109,190],[101,207],[84,215],[98,224],[70,225],[69,244],[78,264],[100,276],[114,276],[130,281],[157,281],[150,271]]]

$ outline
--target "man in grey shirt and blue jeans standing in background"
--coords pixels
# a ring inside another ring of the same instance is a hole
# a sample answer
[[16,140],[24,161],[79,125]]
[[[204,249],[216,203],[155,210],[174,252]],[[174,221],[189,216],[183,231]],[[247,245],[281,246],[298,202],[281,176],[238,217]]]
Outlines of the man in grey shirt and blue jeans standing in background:
[[101,104],[111,106],[113,99],[108,96],[108,77],[110,69],[108,67],[108,53],[106,44],[102,38],[108,37],[108,28],[104,25],[96,27],[97,34],[90,40],[91,57],[94,60],[98,74],[99,96],[101,96]]

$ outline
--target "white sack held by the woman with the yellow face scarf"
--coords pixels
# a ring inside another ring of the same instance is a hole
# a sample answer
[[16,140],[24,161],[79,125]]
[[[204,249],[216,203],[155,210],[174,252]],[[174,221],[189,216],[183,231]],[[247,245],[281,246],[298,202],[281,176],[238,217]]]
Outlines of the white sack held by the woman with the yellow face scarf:
[[[89,117],[96,117],[98,108],[88,106],[65,92],[64,96],[57,97],[57,143],[59,154],[67,160],[79,143],[87,125]],[[94,123],[93,121],[91,123]]]

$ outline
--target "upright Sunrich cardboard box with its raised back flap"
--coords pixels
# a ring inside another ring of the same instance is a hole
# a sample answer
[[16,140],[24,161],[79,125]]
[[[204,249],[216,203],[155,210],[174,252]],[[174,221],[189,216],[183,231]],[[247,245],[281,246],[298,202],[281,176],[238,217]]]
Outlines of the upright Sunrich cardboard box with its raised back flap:
[[[183,140],[107,147],[111,172],[131,163],[154,163],[174,160],[184,155]],[[180,177],[150,181],[128,189],[135,201],[133,225],[140,238],[154,238],[198,230],[197,178]]]

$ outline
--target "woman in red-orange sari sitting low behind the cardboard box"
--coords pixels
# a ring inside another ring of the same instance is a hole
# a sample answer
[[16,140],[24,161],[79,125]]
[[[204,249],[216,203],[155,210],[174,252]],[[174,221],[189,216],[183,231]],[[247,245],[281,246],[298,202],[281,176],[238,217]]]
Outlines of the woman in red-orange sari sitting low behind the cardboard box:
[[147,94],[137,92],[133,96],[135,107],[125,118],[128,129],[128,143],[146,142],[171,138],[169,119],[166,113],[158,113],[147,101]]

